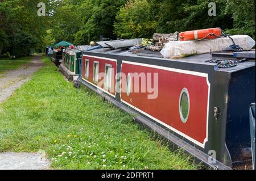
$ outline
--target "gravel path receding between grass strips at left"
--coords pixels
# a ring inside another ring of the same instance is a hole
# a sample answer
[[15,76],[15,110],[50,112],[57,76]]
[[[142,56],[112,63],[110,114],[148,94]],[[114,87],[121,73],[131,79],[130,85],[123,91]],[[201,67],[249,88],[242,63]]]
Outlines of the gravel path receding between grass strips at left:
[[0,103],[9,98],[13,92],[27,82],[31,76],[44,66],[42,56],[34,59],[16,70],[7,71],[0,77]]

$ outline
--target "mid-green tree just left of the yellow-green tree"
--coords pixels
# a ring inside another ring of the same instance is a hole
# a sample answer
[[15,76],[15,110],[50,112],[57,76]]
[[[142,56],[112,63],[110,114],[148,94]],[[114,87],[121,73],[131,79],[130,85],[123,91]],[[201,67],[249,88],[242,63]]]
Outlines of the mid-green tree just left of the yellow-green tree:
[[90,41],[100,40],[100,35],[115,39],[114,20],[117,12],[125,0],[97,0],[85,1],[80,7],[82,12],[82,27],[76,33],[76,44],[88,44]]

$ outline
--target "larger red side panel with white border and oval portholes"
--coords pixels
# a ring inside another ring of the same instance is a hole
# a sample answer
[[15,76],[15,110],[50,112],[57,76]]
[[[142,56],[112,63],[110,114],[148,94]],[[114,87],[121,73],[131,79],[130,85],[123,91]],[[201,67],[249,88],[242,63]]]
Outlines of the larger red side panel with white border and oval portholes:
[[[156,99],[148,99],[147,92],[131,92],[127,96],[126,91],[121,91],[122,100],[163,123],[170,125],[177,131],[186,134],[193,138],[193,140],[201,144],[204,143],[205,138],[207,138],[209,89],[206,77],[126,63],[122,64],[121,71],[125,73],[126,77],[128,73],[152,73],[151,82],[153,82],[153,74],[158,73],[159,86],[158,97]],[[151,83],[151,85],[154,84]],[[139,81],[139,87],[141,87],[141,79]],[[184,88],[187,88],[190,99],[190,111],[187,123],[181,121],[179,114],[179,98]]]

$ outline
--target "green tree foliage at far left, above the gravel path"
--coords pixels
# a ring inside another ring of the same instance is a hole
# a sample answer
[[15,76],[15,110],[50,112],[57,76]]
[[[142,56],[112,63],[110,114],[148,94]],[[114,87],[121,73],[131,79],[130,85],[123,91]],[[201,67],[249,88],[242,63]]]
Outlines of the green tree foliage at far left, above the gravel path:
[[[49,0],[42,0],[49,8]],[[48,16],[38,16],[38,1],[3,0],[0,2],[0,56],[30,54],[43,47],[43,36],[49,27]],[[48,12],[47,10],[47,12]]]

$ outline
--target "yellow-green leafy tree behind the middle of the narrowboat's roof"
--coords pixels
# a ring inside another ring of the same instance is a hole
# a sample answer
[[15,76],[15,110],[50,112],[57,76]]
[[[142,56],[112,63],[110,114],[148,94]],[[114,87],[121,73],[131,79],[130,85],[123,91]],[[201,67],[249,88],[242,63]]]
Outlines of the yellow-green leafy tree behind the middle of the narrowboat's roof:
[[158,27],[158,15],[154,10],[158,1],[132,0],[117,14],[115,34],[122,38],[151,37]]

